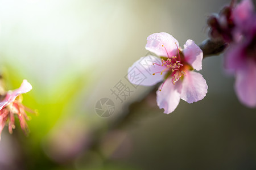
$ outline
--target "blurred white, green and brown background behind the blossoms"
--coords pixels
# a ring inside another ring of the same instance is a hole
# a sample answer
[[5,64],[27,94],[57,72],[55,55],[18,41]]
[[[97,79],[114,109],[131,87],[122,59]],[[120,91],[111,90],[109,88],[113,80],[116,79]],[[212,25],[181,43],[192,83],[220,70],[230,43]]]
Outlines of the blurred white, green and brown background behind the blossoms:
[[[126,80],[147,36],[200,44],[207,16],[229,2],[0,0],[6,90],[27,79],[23,104],[39,112],[28,113],[28,137],[18,120],[13,134],[5,127],[0,169],[256,169],[256,110],[238,101],[222,55],[203,60],[204,100],[171,114],[154,87]],[[125,99],[113,94],[118,83],[131,90]],[[114,111],[102,115],[104,98]]]

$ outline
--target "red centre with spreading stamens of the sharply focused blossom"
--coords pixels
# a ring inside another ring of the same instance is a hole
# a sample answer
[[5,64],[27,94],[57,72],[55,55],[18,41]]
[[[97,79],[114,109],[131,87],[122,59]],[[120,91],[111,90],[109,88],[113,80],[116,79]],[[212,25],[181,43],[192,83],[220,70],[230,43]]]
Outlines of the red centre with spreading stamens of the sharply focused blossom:
[[[181,76],[185,75],[185,71],[184,71],[185,69],[184,69],[184,65],[181,63],[179,48],[177,47],[178,57],[177,56],[170,57],[168,52],[167,52],[166,47],[164,45],[162,45],[162,46],[166,50],[168,59],[164,60],[162,58],[162,64],[152,63],[153,65],[158,65],[158,66],[163,67],[162,71],[158,71],[156,73],[153,73],[153,75],[159,74],[159,73],[162,75],[164,72],[167,72],[168,76],[167,76],[166,80],[168,78],[172,78],[172,83],[175,84],[180,79]],[[177,44],[176,44],[176,46],[177,46]],[[163,85],[166,82],[166,80],[164,80],[164,82],[163,82],[159,91],[162,91]]]

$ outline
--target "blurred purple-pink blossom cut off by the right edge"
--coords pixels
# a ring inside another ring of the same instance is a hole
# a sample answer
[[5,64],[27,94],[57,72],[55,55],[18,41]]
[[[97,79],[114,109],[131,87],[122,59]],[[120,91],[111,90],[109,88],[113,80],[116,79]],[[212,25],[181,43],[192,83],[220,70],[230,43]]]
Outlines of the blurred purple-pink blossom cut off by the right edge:
[[253,2],[244,0],[233,10],[234,41],[225,54],[225,67],[236,76],[241,103],[256,107],[256,14]]

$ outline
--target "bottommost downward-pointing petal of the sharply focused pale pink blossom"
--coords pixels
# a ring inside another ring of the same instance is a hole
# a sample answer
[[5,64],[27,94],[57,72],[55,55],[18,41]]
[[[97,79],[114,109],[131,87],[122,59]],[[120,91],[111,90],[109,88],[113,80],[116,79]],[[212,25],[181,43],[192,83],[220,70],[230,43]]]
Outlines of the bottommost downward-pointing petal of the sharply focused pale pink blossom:
[[158,103],[160,109],[164,109],[164,113],[169,114],[174,112],[180,103],[181,82],[178,81],[176,84],[172,84],[172,79],[168,78],[164,83],[162,91],[159,91],[161,86],[156,91],[156,103]]

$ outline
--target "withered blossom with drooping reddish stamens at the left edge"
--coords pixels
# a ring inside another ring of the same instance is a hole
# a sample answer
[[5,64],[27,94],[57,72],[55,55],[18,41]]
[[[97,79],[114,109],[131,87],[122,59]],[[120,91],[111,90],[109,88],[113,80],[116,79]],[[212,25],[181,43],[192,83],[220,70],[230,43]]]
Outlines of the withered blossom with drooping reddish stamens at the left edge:
[[19,117],[20,127],[24,131],[25,134],[28,133],[28,126],[26,120],[28,120],[28,116],[25,111],[31,111],[22,105],[22,96],[21,94],[25,94],[32,89],[30,83],[27,80],[23,80],[20,87],[14,91],[8,91],[5,99],[0,102],[0,137],[3,128],[5,127],[6,122],[9,122],[9,132],[13,133],[14,125],[14,114],[17,114]]

